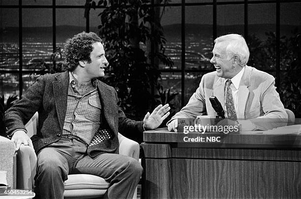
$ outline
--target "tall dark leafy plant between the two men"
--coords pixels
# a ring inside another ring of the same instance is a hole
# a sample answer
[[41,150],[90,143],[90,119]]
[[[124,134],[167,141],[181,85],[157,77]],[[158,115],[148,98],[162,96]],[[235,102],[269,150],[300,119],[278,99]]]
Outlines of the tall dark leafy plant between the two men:
[[[99,13],[99,35],[104,40],[112,74],[104,81],[116,88],[120,106],[129,118],[144,117],[151,109],[151,85],[160,76],[158,64],[172,67],[166,56],[166,40],[160,25],[160,13],[151,0],[87,0],[86,14],[96,5],[105,6]],[[157,0],[167,3],[167,0]]]

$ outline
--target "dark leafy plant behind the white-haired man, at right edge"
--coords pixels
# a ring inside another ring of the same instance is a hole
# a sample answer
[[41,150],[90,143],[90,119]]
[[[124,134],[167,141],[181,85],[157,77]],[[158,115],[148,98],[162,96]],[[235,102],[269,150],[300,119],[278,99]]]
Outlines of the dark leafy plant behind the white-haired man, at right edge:
[[[280,99],[285,108],[292,110],[296,118],[301,117],[301,32],[295,29],[292,36],[280,38]],[[248,65],[258,69],[275,69],[276,35],[266,33],[261,41],[256,36],[249,37],[250,59]]]

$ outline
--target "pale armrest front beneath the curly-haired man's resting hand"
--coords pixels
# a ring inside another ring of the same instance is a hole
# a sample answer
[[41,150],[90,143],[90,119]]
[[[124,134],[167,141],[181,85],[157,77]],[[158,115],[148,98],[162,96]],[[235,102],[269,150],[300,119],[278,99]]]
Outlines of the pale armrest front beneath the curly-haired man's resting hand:
[[36,154],[30,146],[21,145],[17,153],[17,188],[33,189],[36,173]]

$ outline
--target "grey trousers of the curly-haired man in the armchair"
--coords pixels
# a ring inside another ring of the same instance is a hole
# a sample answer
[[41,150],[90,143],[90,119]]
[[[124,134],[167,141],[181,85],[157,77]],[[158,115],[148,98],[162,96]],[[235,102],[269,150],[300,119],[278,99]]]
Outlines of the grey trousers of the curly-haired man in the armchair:
[[87,145],[62,137],[37,154],[35,186],[42,199],[62,199],[68,174],[92,174],[110,182],[105,195],[109,199],[131,199],[142,174],[142,167],[132,157],[102,153],[91,158]]

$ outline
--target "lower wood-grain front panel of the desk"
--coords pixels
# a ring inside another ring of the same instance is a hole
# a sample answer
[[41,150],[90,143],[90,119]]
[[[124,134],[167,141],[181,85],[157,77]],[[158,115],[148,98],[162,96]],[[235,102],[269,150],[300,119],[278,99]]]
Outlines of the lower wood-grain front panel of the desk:
[[172,160],[173,199],[298,199],[301,163]]

